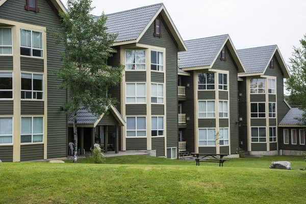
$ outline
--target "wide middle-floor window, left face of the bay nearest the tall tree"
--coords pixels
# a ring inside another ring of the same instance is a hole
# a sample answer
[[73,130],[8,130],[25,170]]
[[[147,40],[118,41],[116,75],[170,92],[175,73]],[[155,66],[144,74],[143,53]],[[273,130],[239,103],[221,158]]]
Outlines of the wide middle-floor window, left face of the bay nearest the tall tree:
[[145,84],[126,84],[126,103],[145,103],[145,97]]

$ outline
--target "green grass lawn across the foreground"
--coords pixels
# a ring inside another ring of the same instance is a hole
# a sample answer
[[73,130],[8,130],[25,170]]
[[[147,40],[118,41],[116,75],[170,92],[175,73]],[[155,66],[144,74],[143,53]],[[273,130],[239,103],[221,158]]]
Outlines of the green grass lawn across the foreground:
[[[269,169],[271,161],[293,170]],[[301,157],[231,159],[223,168],[145,156],[67,162],[0,163],[0,203],[305,203]]]

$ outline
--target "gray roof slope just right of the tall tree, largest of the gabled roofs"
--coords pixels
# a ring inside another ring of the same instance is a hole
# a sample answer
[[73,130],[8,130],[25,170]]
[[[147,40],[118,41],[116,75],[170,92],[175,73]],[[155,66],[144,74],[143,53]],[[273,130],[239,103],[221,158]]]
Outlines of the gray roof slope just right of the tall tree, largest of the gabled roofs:
[[118,33],[116,42],[136,40],[163,4],[155,4],[118,13],[107,14],[109,33]]

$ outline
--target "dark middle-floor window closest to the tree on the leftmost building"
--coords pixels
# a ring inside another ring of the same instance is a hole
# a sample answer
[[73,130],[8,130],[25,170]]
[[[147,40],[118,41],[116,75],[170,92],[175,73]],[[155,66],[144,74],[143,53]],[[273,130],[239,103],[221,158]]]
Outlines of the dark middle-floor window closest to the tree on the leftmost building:
[[21,99],[43,99],[43,74],[21,73]]

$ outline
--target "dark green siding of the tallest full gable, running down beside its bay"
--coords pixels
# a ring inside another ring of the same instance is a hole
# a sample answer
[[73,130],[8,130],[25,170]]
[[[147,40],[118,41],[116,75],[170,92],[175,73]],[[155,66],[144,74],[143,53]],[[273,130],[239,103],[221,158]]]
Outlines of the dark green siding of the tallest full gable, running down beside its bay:
[[154,22],[139,40],[141,44],[166,48],[166,111],[167,111],[167,147],[177,147],[177,47],[171,39],[162,21],[162,37],[154,37]]

